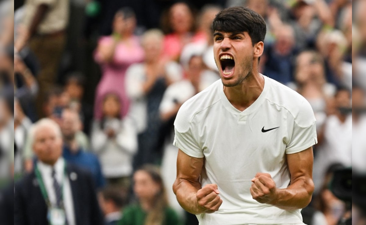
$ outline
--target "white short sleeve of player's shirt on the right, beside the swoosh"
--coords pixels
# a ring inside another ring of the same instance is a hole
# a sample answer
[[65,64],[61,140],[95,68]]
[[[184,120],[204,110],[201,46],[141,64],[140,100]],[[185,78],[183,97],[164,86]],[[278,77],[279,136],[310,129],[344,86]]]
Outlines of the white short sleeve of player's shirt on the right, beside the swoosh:
[[286,154],[303,151],[318,143],[314,112],[305,98],[297,112],[288,112],[287,130]]

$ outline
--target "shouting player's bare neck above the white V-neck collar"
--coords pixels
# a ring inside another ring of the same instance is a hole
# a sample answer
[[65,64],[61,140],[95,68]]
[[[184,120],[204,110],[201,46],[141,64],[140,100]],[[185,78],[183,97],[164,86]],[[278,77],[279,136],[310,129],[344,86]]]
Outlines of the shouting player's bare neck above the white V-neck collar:
[[257,100],[263,88],[264,77],[258,72],[252,72],[239,85],[234,87],[224,86],[224,93],[236,109],[243,111]]

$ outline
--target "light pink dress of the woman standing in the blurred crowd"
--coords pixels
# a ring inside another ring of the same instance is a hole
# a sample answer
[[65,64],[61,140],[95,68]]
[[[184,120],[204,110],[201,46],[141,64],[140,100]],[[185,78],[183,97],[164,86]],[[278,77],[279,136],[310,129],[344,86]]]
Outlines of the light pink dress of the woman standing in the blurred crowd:
[[[112,37],[101,37],[99,45],[112,44]],[[128,43],[128,44],[127,44]],[[102,78],[97,86],[94,102],[94,118],[101,119],[103,97],[108,93],[115,93],[120,97],[122,118],[128,113],[129,100],[125,91],[125,73],[127,68],[133,64],[143,61],[144,52],[136,36],[129,40],[121,41],[116,45],[113,60],[109,63],[101,62],[98,52],[94,54],[94,60],[100,64]]]

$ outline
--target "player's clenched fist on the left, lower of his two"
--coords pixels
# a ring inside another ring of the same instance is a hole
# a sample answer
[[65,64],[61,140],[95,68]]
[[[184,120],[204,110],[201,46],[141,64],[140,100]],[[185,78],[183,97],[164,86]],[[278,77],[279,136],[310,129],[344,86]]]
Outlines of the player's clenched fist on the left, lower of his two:
[[198,209],[201,213],[213,213],[219,210],[223,200],[219,196],[217,184],[207,184],[197,191]]

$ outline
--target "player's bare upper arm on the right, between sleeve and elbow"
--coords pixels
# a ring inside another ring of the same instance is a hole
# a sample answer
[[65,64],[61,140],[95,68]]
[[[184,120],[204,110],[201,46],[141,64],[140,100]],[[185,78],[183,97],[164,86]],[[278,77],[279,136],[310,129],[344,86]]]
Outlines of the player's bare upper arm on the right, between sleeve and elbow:
[[313,178],[313,147],[293,154],[287,154],[287,165],[290,170],[291,184],[299,179]]

